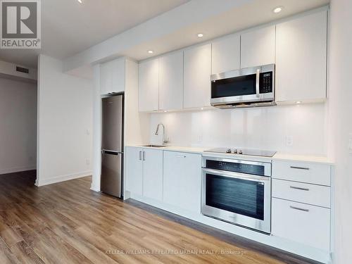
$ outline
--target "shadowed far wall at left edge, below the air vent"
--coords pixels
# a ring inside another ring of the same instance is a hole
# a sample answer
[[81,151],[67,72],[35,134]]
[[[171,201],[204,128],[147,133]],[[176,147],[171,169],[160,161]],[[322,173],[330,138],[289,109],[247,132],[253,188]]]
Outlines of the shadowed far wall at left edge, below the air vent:
[[0,174],[34,170],[37,84],[0,78]]

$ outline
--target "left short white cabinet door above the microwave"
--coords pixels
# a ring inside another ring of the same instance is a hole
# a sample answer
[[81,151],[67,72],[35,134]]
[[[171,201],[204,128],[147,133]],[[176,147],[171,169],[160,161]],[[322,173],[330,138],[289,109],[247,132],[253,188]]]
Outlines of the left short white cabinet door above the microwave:
[[240,67],[240,35],[215,39],[211,44],[211,73],[225,73]]

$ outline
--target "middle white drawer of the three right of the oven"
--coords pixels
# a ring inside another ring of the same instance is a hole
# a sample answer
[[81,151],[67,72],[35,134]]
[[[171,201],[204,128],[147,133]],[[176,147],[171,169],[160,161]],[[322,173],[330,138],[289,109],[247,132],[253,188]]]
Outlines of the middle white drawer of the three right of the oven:
[[272,196],[330,208],[330,187],[272,179]]

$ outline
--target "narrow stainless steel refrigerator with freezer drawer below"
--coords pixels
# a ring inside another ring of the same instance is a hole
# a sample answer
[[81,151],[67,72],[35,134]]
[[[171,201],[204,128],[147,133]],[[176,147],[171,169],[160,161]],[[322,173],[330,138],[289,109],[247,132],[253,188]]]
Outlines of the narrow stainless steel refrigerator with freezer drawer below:
[[101,100],[101,191],[122,197],[123,95]]

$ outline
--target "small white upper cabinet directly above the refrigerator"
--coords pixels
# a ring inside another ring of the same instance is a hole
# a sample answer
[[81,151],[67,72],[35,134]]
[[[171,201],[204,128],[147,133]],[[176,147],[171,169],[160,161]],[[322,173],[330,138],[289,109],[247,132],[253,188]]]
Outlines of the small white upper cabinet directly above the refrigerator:
[[111,94],[125,91],[125,58],[100,65],[100,92]]

